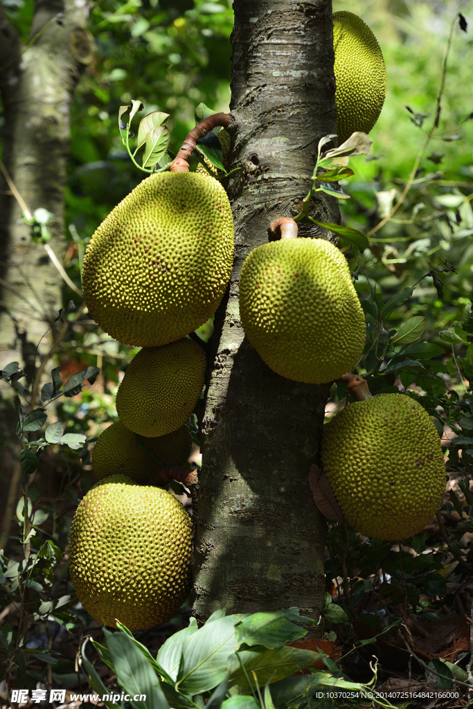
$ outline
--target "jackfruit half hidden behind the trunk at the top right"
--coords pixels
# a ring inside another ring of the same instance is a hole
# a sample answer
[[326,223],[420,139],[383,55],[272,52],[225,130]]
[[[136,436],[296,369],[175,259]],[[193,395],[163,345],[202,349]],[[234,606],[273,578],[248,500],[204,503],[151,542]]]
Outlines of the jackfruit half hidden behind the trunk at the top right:
[[333,15],[338,145],[352,133],[369,133],[386,96],[386,67],[372,30],[352,12]]

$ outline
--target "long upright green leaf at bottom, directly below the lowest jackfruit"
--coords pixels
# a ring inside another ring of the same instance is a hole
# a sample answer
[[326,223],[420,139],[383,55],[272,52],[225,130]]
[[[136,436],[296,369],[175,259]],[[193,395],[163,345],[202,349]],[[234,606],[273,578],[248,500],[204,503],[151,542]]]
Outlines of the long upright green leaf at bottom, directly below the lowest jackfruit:
[[155,670],[129,635],[106,628],[104,635],[118,684],[130,696],[146,696],[139,701],[130,699],[130,705],[134,709],[169,709]]

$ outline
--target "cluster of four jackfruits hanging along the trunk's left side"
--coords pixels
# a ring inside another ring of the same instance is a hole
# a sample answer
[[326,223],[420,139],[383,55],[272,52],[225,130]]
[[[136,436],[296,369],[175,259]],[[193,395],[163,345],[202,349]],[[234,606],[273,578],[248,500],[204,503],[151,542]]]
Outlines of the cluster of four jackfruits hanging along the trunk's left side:
[[170,493],[145,483],[158,465],[187,464],[187,421],[206,357],[186,335],[216,310],[232,264],[226,192],[196,173],[145,179],[87,247],[89,313],[112,337],[142,347],[118,387],[119,420],[94,447],[99,482],[77,508],[69,543],[77,597],[106,625],[162,623],[189,592],[189,515]]

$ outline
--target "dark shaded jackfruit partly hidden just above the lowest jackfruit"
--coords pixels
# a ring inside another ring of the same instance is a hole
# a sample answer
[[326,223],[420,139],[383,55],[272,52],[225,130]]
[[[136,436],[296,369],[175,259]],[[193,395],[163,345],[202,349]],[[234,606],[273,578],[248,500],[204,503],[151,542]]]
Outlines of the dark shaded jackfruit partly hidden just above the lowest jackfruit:
[[[121,421],[108,426],[99,436],[92,451],[92,467],[97,480],[108,475],[126,475],[138,484],[145,483],[157,467],[157,462],[136,440],[138,434]],[[177,431],[155,438],[141,437],[156,456],[169,465],[184,465],[189,458],[192,439],[188,424]]]

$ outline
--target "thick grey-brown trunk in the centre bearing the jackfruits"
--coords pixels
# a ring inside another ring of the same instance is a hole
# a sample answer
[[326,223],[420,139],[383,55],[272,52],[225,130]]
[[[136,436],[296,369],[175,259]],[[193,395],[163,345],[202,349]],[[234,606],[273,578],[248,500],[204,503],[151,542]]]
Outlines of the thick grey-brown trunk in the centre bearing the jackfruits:
[[[238,277],[269,223],[295,216],[318,140],[336,133],[330,0],[235,0],[232,34],[232,167],[235,262],[216,314],[203,422],[194,554],[194,615],[297,606],[320,617],[325,521],[308,486],[330,384],[274,374],[240,323]],[[321,194],[321,193],[318,193]],[[337,223],[335,200],[311,206]],[[335,237],[306,220],[300,236]]]

